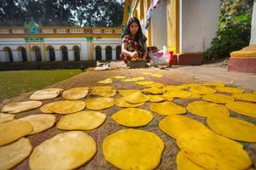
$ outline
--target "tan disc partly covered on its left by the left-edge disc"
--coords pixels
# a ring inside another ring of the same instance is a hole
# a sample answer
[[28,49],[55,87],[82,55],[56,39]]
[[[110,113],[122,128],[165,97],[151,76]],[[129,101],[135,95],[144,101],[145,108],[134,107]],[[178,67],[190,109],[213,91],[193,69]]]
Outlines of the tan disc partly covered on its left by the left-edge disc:
[[30,122],[33,130],[29,134],[41,133],[55,124],[55,116],[49,114],[38,114],[20,118],[21,121]]

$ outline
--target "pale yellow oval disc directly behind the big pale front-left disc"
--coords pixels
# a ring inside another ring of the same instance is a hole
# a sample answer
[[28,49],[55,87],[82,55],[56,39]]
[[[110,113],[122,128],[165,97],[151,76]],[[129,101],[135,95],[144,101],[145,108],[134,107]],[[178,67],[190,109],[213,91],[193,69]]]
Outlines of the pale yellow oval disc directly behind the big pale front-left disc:
[[102,125],[106,115],[99,111],[79,111],[67,116],[61,116],[57,128],[63,130],[92,130]]

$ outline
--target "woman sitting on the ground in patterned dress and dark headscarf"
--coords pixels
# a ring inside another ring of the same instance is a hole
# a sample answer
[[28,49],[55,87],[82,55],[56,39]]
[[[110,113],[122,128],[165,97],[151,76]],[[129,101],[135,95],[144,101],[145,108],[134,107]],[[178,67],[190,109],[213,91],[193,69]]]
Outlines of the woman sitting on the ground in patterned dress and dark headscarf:
[[147,50],[147,37],[143,35],[142,26],[136,17],[128,20],[122,37],[122,52],[120,58],[128,64],[130,60],[144,59],[149,61]]

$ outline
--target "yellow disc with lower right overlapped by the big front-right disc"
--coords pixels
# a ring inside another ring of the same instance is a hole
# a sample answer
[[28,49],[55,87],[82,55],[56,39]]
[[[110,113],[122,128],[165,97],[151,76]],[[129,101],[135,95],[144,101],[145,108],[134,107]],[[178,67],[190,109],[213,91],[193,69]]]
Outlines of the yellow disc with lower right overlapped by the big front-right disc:
[[187,116],[172,115],[166,116],[160,121],[159,127],[162,131],[177,139],[179,135],[187,132],[188,130],[200,130],[207,128],[203,123],[191,119]]

